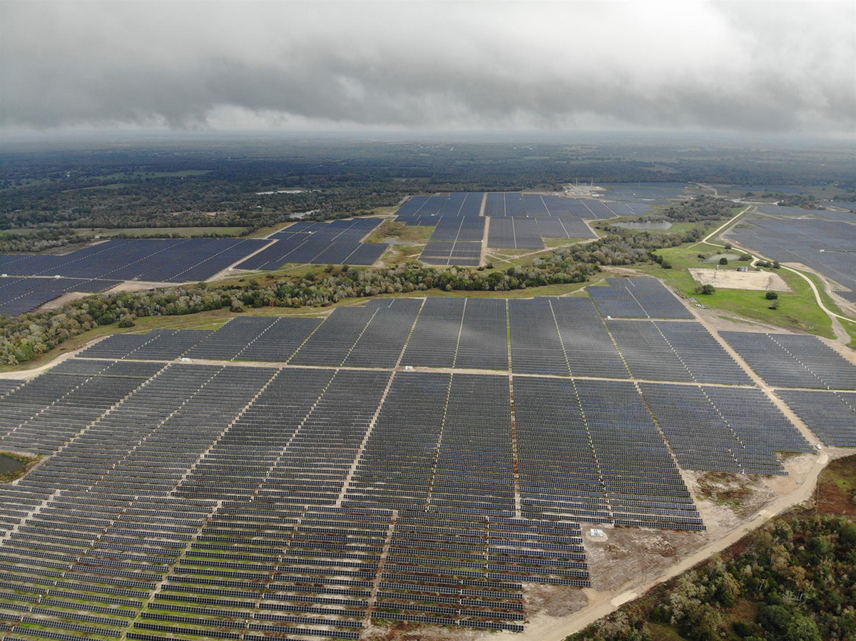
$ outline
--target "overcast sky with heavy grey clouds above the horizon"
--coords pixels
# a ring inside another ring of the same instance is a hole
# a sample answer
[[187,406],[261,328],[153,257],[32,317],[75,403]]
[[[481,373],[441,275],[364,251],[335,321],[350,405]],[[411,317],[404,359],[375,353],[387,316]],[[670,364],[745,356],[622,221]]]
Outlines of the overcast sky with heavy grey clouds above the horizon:
[[0,1],[0,127],[853,137],[856,3]]

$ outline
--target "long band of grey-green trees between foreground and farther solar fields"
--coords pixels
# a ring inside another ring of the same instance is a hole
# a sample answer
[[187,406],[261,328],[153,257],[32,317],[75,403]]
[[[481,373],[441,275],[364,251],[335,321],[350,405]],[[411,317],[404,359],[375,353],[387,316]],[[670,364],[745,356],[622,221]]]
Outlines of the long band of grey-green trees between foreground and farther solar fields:
[[318,273],[282,277],[264,286],[246,283],[154,289],[116,294],[94,294],[68,302],[56,310],[19,317],[0,316],[0,364],[26,363],[50,352],[76,335],[112,323],[132,326],[136,318],[177,316],[229,308],[329,306],[348,298],[378,294],[406,294],[431,288],[443,291],[493,291],[586,282],[601,265],[649,261],[652,249],[698,240],[698,231],[686,234],[631,233],[618,230],[591,243],[562,247],[533,258],[529,264],[507,270],[437,270],[418,262],[388,269],[353,269],[329,265]]

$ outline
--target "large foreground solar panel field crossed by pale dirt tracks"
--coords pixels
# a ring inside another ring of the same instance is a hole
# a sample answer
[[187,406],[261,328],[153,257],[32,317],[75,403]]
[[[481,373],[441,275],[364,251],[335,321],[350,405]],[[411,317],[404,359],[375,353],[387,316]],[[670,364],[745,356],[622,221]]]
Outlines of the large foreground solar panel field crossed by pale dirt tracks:
[[588,291],[110,335],[0,380],[0,450],[45,457],[0,486],[5,638],[524,632],[533,585],[591,586],[586,528],[704,532],[687,471],[856,445],[816,337]]

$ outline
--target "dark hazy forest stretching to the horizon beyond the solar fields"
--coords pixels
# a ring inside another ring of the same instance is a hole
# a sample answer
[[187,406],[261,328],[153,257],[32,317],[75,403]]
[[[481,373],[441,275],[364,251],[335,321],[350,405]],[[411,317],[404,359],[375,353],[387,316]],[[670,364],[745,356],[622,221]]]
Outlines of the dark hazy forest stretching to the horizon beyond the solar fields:
[[[216,144],[214,144],[216,143]],[[831,156],[607,141],[515,145],[426,139],[190,140],[0,153],[0,229],[246,227],[312,212],[359,216],[412,193],[561,191],[580,181],[835,184],[856,193],[856,169]],[[651,158],[657,158],[655,162]],[[668,160],[663,160],[663,158]],[[299,193],[276,193],[300,190]],[[274,192],[274,193],[263,193]],[[848,192],[848,193],[849,193]],[[74,242],[72,234],[9,240],[15,251]],[[29,243],[29,244],[28,244]]]

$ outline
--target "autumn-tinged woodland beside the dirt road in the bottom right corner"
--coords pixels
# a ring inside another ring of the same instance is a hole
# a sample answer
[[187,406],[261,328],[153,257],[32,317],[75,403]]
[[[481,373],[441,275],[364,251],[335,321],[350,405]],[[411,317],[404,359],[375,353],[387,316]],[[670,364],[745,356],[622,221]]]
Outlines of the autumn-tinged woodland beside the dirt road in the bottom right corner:
[[813,506],[773,519],[566,641],[851,641],[854,488],[856,456],[833,461]]

